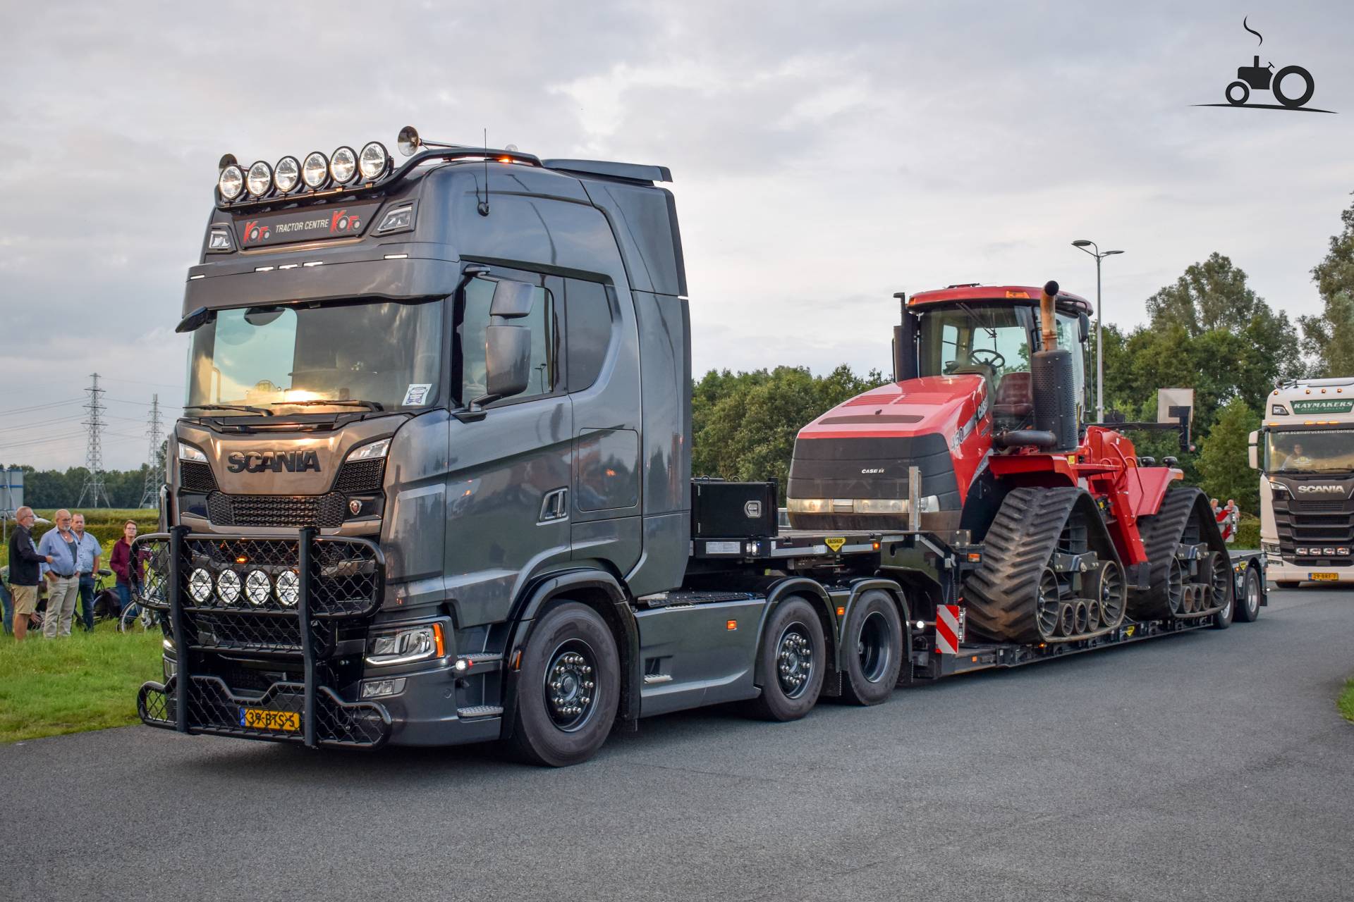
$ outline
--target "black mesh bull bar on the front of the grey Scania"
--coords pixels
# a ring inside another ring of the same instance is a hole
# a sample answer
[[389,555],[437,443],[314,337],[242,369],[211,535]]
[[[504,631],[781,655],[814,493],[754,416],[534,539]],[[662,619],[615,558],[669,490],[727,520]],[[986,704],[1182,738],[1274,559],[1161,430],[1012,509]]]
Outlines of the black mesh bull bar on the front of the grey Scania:
[[[338,626],[362,626],[380,606],[385,556],[366,538],[217,536],[175,527],[141,536],[133,561],[145,567],[135,600],[164,613],[175,672],[137,695],[144,723],[345,748],[390,738],[390,714],[375,702],[345,702],[328,682]],[[301,682],[236,694],[204,664],[246,659],[299,664]]]

